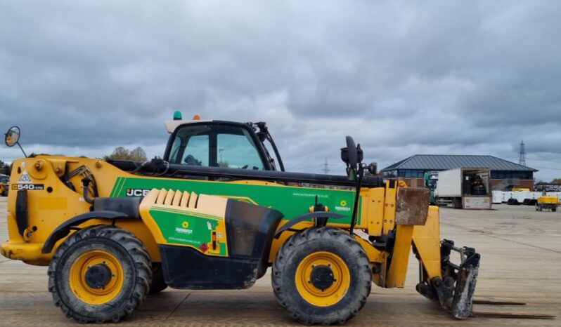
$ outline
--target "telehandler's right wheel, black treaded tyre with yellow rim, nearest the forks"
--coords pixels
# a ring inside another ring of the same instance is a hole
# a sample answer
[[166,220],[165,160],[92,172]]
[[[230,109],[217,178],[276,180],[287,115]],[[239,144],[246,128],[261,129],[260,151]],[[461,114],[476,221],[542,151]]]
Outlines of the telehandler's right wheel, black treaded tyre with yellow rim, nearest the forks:
[[273,291],[301,323],[344,323],[370,294],[372,272],[362,246],[333,227],[304,229],[285,241],[273,262]]

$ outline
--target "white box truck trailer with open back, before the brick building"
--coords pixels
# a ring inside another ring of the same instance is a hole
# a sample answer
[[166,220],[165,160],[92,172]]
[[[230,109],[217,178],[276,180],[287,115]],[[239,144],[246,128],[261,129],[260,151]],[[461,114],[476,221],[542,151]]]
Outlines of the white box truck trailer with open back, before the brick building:
[[434,194],[439,206],[491,209],[491,171],[489,168],[439,171]]

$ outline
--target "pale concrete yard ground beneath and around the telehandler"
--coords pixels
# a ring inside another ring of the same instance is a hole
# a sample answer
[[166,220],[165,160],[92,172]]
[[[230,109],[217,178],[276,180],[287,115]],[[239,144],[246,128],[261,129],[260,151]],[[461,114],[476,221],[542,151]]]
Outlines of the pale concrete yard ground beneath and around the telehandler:
[[[556,319],[453,319],[415,291],[418,264],[411,257],[403,289],[373,284],[366,306],[345,326],[561,326],[561,213],[531,206],[495,205],[494,211],[441,209],[441,237],[482,255],[477,298],[527,302],[475,305],[479,312],[555,314]],[[8,238],[6,198],[0,197],[0,241]],[[0,256],[0,326],[75,325],[53,305],[46,267]],[[269,273],[244,291],[176,291],[148,297],[128,326],[302,326],[278,305]]]

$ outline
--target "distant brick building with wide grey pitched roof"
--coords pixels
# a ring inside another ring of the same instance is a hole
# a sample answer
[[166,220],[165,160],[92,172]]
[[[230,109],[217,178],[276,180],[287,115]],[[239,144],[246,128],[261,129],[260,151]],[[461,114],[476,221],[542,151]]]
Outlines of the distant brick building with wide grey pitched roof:
[[446,171],[453,168],[490,168],[493,189],[522,187],[534,190],[534,173],[538,171],[496,156],[415,154],[387,166],[380,172],[384,178],[405,180],[411,187],[422,187],[425,172]]

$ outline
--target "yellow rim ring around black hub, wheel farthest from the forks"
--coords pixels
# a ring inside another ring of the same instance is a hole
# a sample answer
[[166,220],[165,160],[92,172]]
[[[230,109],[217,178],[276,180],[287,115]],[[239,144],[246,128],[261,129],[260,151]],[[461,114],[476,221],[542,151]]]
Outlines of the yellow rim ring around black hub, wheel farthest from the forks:
[[[105,265],[111,272],[111,279],[103,288],[93,288],[86,283],[86,272],[93,265]],[[72,263],[68,279],[72,293],[82,302],[89,305],[103,305],[120,293],[124,273],[122,265],[115,255],[104,250],[94,250],[83,253]]]

